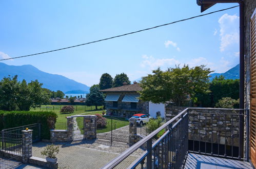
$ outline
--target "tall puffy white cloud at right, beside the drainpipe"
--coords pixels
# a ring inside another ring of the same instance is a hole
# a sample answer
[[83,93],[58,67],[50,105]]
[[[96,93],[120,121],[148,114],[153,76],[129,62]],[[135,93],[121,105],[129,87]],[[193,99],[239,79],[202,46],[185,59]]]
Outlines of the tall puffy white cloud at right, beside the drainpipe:
[[225,13],[219,19],[221,46],[220,51],[225,51],[232,45],[239,44],[239,16]]

